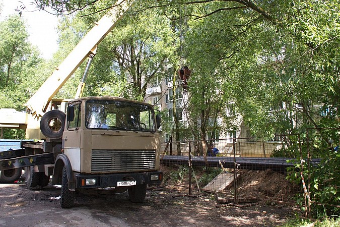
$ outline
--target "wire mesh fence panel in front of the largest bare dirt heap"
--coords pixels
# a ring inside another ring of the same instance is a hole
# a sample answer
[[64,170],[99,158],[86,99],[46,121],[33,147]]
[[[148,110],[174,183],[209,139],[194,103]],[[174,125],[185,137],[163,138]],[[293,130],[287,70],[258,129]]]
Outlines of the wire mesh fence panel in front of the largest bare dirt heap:
[[286,150],[288,147],[291,150],[299,150],[296,135],[276,136],[269,141],[240,138],[234,142],[235,154],[240,156],[235,158],[238,176],[237,200],[252,198],[294,202],[293,198],[300,188],[286,178],[287,168],[293,167],[296,161],[294,155],[288,155]]

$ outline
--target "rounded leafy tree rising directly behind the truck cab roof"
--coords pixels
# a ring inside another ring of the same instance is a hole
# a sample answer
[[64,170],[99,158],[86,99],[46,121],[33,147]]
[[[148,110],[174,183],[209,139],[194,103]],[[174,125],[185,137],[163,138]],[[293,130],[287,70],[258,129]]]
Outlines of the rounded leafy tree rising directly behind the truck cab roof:
[[107,69],[125,87],[124,97],[144,100],[147,87],[164,77],[164,60],[173,58],[173,32],[169,21],[157,14],[126,16],[103,41],[97,61],[111,63]]

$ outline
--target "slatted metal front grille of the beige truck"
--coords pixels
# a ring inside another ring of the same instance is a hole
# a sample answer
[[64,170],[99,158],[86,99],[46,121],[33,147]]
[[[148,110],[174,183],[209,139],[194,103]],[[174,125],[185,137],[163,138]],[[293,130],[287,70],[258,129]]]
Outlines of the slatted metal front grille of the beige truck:
[[155,150],[93,150],[92,173],[146,171],[155,169]]

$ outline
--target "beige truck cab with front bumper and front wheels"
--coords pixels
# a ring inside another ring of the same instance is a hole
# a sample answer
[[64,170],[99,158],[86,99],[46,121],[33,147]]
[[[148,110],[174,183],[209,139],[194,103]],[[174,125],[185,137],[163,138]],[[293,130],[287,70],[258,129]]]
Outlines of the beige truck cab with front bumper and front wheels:
[[109,96],[70,101],[52,178],[62,187],[62,207],[90,188],[128,190],[132,202],[143,202],[147,185],[162,182],[159,126],[148,103]]

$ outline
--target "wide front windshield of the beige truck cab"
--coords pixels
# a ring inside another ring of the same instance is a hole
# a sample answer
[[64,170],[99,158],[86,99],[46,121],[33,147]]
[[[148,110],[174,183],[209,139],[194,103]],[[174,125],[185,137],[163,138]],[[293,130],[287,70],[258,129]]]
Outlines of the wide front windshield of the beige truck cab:
[[86,128],[131,131],[156,131],[150,106],[116,100],[86,102]]

